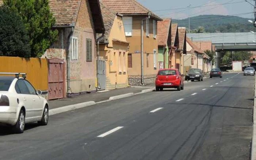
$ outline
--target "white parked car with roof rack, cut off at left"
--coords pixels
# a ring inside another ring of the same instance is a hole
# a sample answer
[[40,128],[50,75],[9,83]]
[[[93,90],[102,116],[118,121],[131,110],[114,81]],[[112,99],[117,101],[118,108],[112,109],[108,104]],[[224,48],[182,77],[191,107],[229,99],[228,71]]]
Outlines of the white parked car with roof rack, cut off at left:
[[0,124],[11,125],[15,133],[23,133],[25,123],[47,125],[49,104],[42,91],[35,91],[25,73],[5,74],[15,76],[0,76]]

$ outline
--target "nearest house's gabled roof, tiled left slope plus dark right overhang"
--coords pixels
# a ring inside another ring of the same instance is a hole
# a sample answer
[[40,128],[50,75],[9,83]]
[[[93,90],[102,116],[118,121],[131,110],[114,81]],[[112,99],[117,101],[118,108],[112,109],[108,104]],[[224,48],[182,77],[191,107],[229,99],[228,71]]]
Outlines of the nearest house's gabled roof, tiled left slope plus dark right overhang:
[[[82,0],[49,0],[50,10],[55,17],[57,26],[75,24]],[[96,33],[104,33],[105,28],[99,7],[99,0],[88,0]]]

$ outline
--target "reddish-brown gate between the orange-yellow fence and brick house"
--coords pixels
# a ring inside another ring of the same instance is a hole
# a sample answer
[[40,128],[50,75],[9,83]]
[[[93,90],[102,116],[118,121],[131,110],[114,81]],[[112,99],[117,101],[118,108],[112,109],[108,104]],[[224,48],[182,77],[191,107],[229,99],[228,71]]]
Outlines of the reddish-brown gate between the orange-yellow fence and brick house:
[[65,62],[59,58],[48,60],[48,99],[64,98]]

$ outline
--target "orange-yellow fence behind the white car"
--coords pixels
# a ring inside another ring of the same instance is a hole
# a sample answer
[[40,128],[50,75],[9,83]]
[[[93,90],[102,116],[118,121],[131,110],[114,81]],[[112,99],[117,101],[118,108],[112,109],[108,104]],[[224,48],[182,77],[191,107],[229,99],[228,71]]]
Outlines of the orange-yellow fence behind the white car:
[[35,89],[48,90],[48,64],[45,58],[26,60],[20,57],[0,57],[0,64],[0,72],[27,73],[26,79]]

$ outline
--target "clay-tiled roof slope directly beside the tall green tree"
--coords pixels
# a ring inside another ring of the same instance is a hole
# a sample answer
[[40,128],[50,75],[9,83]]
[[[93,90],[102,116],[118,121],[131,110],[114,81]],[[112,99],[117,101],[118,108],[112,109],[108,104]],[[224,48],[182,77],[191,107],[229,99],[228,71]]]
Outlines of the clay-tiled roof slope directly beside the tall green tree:
[[81,0],[49,0],[57,26],[75,23]]

